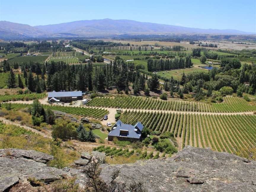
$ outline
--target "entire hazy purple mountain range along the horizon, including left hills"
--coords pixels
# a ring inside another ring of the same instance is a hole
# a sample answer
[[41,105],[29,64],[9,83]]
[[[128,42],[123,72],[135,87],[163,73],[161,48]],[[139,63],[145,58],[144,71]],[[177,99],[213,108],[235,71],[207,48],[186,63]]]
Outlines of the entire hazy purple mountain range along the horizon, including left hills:
[[116,34],[244,34],[255,33],[234,29],[200,29],[176,25],[138,22],[133,20],[81,20],[53,25],[30,26],[26,24],[0,21],[0,38],[30,38],[54,36],[97,36]]

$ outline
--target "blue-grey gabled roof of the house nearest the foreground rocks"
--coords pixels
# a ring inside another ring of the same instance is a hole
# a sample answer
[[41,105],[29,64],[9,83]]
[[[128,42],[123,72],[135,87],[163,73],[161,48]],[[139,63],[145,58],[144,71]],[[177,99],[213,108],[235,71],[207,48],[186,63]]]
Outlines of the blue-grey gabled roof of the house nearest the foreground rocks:
[[[143,125],[138,122],[137,123],[139,126],[138,128],[141,130],[143,129]],[[136,124],[136,125],[137,125]],[[136,138],[140,139],[141,134],[139,132],[136,132],[136,127],[130,124],[124,124],[121,120],[118,120],[116,124],[113,126],[114,129],[111,130],[111,132],[108,134],[109,136],[114,136],[114,137],[126,137],[123,136],[120,132],[120,130],[128,130],[127,137],[129,138]]]

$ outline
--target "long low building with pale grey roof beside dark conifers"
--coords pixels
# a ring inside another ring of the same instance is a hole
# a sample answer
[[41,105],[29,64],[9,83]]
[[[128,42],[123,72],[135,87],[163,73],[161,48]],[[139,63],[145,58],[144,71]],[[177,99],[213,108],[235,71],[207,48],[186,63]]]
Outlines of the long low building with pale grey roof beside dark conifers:
[[48,92],[48,101],[51,102],[71,102],[82,99],[81,91],[67,91],[67,92]]

